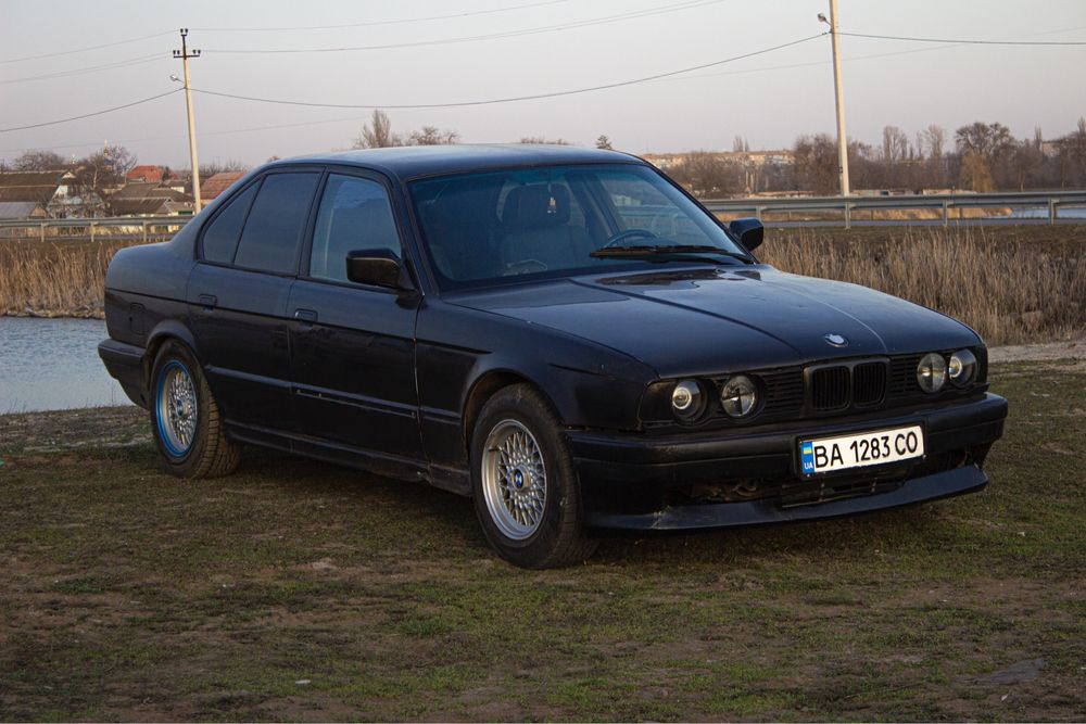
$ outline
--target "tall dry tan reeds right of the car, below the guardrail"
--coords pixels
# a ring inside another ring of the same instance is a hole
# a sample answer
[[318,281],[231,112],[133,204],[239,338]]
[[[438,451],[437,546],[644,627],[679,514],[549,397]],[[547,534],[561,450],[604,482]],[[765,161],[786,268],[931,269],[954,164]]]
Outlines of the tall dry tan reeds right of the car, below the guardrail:
[[[1069,232],[1073,233],[1073,232]],[[769,232],[762,261],[938,309],[988,344],[1066,339],[1086,327],[1084,245],[987,238],[983,229],[893,229],[880,241],[847,232]]]

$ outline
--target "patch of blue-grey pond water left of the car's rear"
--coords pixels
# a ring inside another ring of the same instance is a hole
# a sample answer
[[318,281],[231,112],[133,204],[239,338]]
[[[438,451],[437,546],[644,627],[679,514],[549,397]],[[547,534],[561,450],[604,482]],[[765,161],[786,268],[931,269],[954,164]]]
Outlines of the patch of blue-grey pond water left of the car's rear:
[[0,414],[130,405],[98,358],[101,319],[0,317]]

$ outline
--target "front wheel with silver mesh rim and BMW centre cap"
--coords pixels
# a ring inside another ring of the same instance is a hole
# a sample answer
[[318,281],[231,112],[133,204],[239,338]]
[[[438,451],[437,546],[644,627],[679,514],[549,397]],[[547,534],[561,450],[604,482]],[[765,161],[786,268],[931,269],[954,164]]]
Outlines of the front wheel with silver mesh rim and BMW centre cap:
[[561,568],[596,549],[561,425],[528,384],[483,405],[471,434],[471,493],[487,541],[514,566]]

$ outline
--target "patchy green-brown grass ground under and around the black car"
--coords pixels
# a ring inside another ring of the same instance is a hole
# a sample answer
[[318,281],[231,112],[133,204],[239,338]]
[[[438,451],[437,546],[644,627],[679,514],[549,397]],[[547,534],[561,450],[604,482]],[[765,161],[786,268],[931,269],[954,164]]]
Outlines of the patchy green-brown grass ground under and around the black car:
[[433,488],[258,450],[193,483],[132,408],[0,417],[0,719],[1082,720],[1086,367],[993,378],[978,495],[547,572]]

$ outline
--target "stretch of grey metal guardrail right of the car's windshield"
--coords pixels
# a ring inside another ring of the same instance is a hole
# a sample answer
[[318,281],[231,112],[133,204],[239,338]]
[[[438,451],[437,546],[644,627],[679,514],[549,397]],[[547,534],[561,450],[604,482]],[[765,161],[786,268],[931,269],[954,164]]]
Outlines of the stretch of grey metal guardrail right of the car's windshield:
[[[845,228],[849,228],[853,217],[862,212],[935,209],[937,219],[944,226],[954,220],[951,211],[964,208],[1011,208],[1043,209],[1041,219],[1056,224],[1060,207],[1086,207],[1086,191],[1026,191],[1020,193],[946,193],[930,195],[897,196],[790,196],[722,199],[702,202],[714,213],[753,214],[763,218],[767,214],[837,213]],[[959,218],[960,218],[959,214]],[[1008,220],[1008,217],[992,217]],[[1038,217],[1014,217],[1023,223],[1038,220]],[[1083,219],[1086,221],[1086,219]],[[908,224],[910,219],[892,219],[892,223]]]

